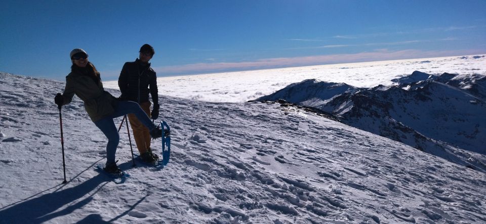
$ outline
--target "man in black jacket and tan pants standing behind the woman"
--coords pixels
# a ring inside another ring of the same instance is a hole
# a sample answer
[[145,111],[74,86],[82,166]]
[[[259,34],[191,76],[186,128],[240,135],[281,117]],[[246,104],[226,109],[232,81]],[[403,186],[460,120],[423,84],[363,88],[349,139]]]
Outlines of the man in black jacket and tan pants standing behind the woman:
[[[134,62],[126,62],[121,69],[120,77],[118,78],[118,87],[121,91],[120,99],[137,102],[147,116],[151,116],[155,120],[159,114],[157,77],[155,71],[150,67],[150,63],[148,63],[155,54],[155,51],[152,46],[144,44],[139,52],[139,58]],[[148,98],[149,93],[153,101],[151,113]],[[142,161],[155,163],[158,160],[158,156],[152,153],[150,149],[149,130],[143,126],[135,115],[129,114],[128,118]]]

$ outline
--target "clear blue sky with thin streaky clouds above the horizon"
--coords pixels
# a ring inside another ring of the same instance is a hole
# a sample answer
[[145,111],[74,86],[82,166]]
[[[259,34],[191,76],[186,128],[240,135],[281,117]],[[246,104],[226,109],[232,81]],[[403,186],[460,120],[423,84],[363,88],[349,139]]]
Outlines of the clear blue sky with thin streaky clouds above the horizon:
[[486,1],[2,1],[0,71],[64,80],[83,48],[115,80],[486,53]]

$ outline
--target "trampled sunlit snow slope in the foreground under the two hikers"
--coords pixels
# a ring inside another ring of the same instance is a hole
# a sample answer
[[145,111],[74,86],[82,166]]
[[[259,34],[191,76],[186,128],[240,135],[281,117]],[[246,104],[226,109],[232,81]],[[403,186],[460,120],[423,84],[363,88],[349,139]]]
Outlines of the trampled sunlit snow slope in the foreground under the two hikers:
[[484,173],[261,102],[161,96],[170,163],[132,167],[124,128],[116,155],[131,177],[115,182],[94,169],[106,139],[74,97],[62,110],[61,184],[63,87],[0,73],[0,223],[486,222]]

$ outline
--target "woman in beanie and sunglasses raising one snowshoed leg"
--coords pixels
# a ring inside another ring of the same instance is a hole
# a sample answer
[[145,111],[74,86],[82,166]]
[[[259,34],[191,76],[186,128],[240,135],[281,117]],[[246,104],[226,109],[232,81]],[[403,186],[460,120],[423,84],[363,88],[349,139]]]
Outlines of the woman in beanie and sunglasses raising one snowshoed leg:
[[70,53],[71,72],[66,76],[64,93],[58,93],[54,101],[59,106],[71,102],[74,94],[85,102],[85,109],[91,120],[108,138],[106,145],[106,166],[109,173],[119,173],[116,166],[115,153],[119,142],[118,130],[113,118],[126,114],[135,114],[141,123],[150,130],[152,138],[162,136],[160,127],[155,126],[136,102],[118,101],[110,93],[103,90],[100,72],[88,61],[88,54],[83,49],[76,48]]

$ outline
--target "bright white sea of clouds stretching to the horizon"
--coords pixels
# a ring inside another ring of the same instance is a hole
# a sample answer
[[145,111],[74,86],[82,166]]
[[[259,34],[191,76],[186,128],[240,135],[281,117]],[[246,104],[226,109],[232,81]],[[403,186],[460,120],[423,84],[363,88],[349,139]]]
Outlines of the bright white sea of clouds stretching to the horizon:
[[[209,102],[246,102],[307,79],[369,88],[391,85],[392,79],[408,76],[415,70],[437,75],[443,72],[484,74],[486,57],[471,55],[421,58],[177,77],[160,77],[163,74],[158,73],[157,84],[159,93],[165,96]],[[103,85],[105,88],[118,89],[117,81],[104,82]]]

